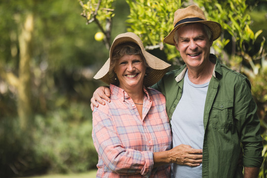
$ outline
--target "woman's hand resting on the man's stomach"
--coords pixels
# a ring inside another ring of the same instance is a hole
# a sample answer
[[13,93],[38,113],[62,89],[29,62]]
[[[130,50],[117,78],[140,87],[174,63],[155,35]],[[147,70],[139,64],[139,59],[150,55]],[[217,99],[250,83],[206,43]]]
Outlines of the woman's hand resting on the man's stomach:
[[169,157],[172,163],[196,167],[202,163],[202,149],[180,144],[170,150]]

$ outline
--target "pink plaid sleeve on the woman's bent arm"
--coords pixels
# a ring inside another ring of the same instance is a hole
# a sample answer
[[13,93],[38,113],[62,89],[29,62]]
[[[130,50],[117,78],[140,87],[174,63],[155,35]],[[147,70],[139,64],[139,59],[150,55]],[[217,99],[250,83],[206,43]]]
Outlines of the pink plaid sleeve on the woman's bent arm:
[[[141,174],[148,178],[153,169],[153,152],[125,149],[108,111],[100,106],[93,112],[93,143],[104,164],[121,175]],[[126,133],[127,134],[127,133]]]

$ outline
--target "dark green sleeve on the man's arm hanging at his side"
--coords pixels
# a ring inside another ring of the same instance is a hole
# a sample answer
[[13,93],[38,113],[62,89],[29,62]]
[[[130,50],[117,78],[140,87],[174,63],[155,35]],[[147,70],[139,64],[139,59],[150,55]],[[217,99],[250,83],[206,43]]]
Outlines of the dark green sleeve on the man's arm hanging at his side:
[[234,98],[234,118],[238,120],[237,128],[243,144],[243,165],[261,167],[263,162],[263,142],[260,133],[260,120],[257,116],[257,105],[250,90],[247,78],[236,85]]

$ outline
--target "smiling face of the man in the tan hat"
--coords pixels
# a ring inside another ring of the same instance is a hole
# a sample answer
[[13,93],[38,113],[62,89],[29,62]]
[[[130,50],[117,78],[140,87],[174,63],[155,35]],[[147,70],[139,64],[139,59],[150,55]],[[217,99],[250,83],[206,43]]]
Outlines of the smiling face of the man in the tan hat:
[[205,68],[209,62],[212,41],[204,32],[203,24],[192,23],[182,26],[176,33],[178,42],[175,45],[187,67],[195,70]]

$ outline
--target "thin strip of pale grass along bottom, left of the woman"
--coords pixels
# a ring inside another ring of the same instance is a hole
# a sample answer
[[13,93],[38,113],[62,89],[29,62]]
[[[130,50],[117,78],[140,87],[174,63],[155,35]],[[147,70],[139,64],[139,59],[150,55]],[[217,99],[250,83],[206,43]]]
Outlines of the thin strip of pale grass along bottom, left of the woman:
[[23,178],[95,178],[96,170],[79,174],[48,174],[43,176],[23,177]]

